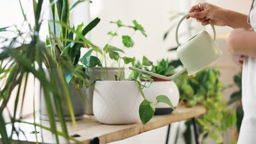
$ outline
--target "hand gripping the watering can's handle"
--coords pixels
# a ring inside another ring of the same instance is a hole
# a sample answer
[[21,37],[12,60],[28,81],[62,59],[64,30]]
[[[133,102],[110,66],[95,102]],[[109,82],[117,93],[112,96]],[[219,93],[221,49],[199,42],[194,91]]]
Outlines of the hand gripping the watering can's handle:
[[197,4],[189,10],[189,17],[195,18],[203,26],[210,24],[210,22],[216,26],[226,26],[225,13],[226,10],[223,8],[209,3],[202,3],[200,7]]

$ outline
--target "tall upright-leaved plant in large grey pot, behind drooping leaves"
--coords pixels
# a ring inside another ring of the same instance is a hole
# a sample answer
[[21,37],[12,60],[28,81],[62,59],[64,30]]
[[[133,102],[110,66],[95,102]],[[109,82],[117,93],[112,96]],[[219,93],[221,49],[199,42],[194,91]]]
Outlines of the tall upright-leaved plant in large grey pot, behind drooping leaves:
[[[88,103],[88,97],[86,97],[86,87],[90,87],[91,83],[87,80],[88,73],[86,74],[86,68],[84,65],[79,64],[80,58],[80,49],[89,49],[92,47],[95,51],[100,51],[100,49],[92,44],[88,39],[85,38],[85,35],[89,33],[99,22],[100,19],[97,17],[92,20],[88,25],[84,27],[84,24],[81,23],[77,26],[76,29],[71,28],[69,26],[69,1],[67,1],[67,7],[65,13],[60,13],[63,7],[66,7],[62,4],[62,2],[56,2],[53,7],[51,7],[51,13],[53,14],[53,27],[49,26],[49,36],[46,39],[46,45],[51,50],[51,54],[57,60],[59,58],[70,59],[70,64],[73,65],[74,70],[71,69],[63,69],[62,73],[65,75],[65,80],[67,82],[69,91],[71,93],[71,103],[74,105],[73,113],[76,120],[83,118],[86,106]],[[73,9],[77,3],[75,3],[71,9]],[[57,20],[55,21],[55,12],[57,13]],[[49,21],[50,23],[52,21]],[[56,26],[60,26],[60,35],[56,34]],[[61,62],[61,64],[65,64],[65,62]],[[46,64],[45,72],[48,73],[48,65]],[[58,70],[58,67],[56,68]],[[58,72],[57,72],[58,73]],[[61,73],[59,73],[61,75]],[[40,88],[40,85],[39,85]],[[44,95],[44,90],[40,89],[41,95]],[[51,100],[53,99],[53,95],[51,95]],[[86,103],[87,102],[87,103]],[[63,107],[67,105],[66,101],[62,103]],[[89,108],[88,108],[89,109]],[[40,118],[48,120],[48,112],[46,109],[45,99],[44,97],[40,97]],[[70,111],[66,107],[63,110],[63,115],[66,120],[71,120]],[[57,111],[55,110],[55,116],[57,117]]]

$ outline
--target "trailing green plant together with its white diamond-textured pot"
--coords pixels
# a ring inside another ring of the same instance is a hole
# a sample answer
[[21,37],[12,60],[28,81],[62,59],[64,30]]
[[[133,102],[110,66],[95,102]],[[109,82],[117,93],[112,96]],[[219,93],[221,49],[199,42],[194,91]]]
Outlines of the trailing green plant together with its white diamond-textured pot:
[[[147,36],[144,28],[139,25],[136,20],[133,20],[133,26],[126,26],[118,20],[115,23],[118,29],[128,27],[134,32],[139,31]],[[109,32],[112,38],[117,36],[117,31]],[[157,102],[149,101],[143,94],[143,87],[139,81],[134,79],[125,79],[122,72],[125,65],[134,63],[135,57],[123,56],[124,49],[134,45],[131,35],[123,35],[123,49],[106,44],[103,48],[103,59],[106,59],[107,54],[114,63],[118,64],[118,75],[115,75],[115,81],[96,81],[94,89],[93,109],[97,121],[104,124],[130,124],[138,122],[141,119],[143,124],[146,124],[154,115],[155,105],[161,102],[172,106],[170,99],[165,95],[158,95]],[[89,63],[88,58],[91,52],[85,54],[80,61],[83,64]],[[146,61],[145,61],[146,62]],[[101,62],[98,62],[101,63]],[[146,62],[148,63],[148,62]],[[101,64],[99,64],[101,65]],[[106,65],[106,61],[105,61]],[[107,70],[107,69],[106,69]],[[149,76],[145,76],[150,82],[153,82]],[[156,96],[156,95],[155,95]],[[144,99],[144,100],[143,100]],[[173,106],[172,106],[173,107]]]

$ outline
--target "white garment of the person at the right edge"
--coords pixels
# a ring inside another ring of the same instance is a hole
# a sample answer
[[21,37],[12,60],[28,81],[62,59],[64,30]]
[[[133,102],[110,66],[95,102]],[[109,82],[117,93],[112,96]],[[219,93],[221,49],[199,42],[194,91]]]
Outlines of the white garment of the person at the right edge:
[[[256,1],[253,1],[248,22],[256,32]],[[237,144],[253,144],[256,143],[256,57],[245,57],[243,62],[242,105],[244,116]]]

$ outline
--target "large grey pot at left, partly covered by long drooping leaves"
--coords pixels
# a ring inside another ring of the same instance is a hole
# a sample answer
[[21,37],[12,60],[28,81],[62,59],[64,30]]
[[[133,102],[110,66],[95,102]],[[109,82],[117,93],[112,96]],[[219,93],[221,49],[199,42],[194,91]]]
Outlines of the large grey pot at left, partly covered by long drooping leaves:
[[[48,79],[49,79],[48,70],[45,69],[44,71],[46,73],[46,76],[48,76]],[[39,98],[40,119],[49,120],[47,107],[46,107],[45,99],[44,99],[44,89],[41,88],[41,87],[42,86],[40,86],[40,83],[39,83],[38,88],[39,88],[39,93],[40,93],[40,98]],[[71,97],[72,106],[73,106],[73,110],[74,110],[75,120],[82,119],[84,117],[84,114],[85,114],[85,95],[84,94],[85,94],[86,87],[83,86],[82,88],[77,89],[70,82],[68,88],[69,88],[69,94],[70,94],[70,97]],[[52,103],[54,104],[53,95],[51,94],[50,97],[51,97]],[[63,95],[63,97],[65,97],[65,95]],[[63,98],[63,99],[66,99],[66,98]],[[65,120],[66,121],[71,121],[71,116],[70,116],[70,112],[69,112],[69,109],[68,109],[67,105],[68,104],[66,103],[66,101],[62,101],[62,110],[63,110],[62,112],[63,112],[63,115],[65,116]],[[57,121],[59,121],[59,117],[57,115],[57,111],[55,109],[55,106],[53,106],[53,108],[54,108],[55,119]]]

